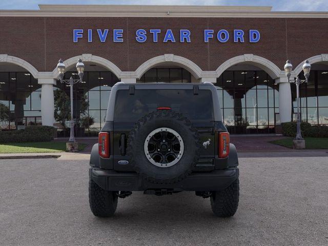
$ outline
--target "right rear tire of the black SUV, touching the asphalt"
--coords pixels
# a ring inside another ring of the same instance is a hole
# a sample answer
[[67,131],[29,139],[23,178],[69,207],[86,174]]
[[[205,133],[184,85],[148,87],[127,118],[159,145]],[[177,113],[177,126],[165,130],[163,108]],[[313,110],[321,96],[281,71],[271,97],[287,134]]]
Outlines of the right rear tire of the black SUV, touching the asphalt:
[[213,213],[218,217],[231,217],[238,208],[239,178],[223,191],[214,191],[211,196]]

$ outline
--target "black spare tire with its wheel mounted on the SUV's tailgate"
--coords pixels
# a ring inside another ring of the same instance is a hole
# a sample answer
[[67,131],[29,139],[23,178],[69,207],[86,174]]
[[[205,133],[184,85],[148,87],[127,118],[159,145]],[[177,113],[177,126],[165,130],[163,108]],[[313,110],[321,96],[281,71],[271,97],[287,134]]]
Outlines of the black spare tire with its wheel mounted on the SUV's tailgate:
[[131,130],[127,154],[134,170],[153,183],[188,176],[199,158],[199,136],[189,119],[171,110],[142,117]]

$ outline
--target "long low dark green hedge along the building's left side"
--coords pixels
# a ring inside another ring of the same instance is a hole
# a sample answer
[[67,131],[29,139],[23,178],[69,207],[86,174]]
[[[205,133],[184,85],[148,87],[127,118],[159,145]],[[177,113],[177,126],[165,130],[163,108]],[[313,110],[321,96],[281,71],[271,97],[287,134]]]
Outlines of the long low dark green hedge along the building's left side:
[[55,128],[48,126],[30,126],[25,130],[0,131],[0,143],[51,141],[54,133]]

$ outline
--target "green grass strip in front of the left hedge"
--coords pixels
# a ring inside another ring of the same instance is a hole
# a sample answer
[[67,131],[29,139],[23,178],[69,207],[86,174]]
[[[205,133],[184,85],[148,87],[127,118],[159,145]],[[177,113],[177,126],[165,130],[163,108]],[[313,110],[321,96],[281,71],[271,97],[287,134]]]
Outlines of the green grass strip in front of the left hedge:
[[[78,150],[84,150],[86,144],[78,144]],[[1,144],[0,153],[45,153],[45,152],[64,152],[66,142],[14,142]]]

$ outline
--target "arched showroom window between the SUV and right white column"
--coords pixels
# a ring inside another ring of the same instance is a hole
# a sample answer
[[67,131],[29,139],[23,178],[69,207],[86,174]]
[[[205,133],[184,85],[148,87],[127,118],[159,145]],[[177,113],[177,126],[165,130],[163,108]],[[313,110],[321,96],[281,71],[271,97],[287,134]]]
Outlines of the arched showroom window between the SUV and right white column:
[[274,132],[278,86],[264,71],[224,71],[216,86],[224,125],[231,133]]

